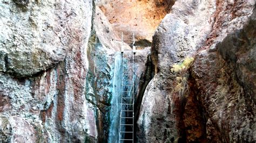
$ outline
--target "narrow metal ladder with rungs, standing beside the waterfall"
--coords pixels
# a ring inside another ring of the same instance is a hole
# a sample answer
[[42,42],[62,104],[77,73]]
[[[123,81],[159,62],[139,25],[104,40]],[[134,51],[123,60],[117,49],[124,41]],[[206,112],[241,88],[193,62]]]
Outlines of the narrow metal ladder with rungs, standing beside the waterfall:
[[[134,33],[132,33],[133,43],[132,43],[132,50],[131,51],[124,51],[123,45],[123,32],[122,32],[122,46],[121,46],[121,53],[122,53],[122,94],[121,94],[121,110],[120,110],[120,124],[119,124],[119,142],[123,142],[125,140],[131,140],[134,142],[134,98],[135,98],[135,65],[134,65],[134,54],[136,53],[136,46]],[[127,57],[126,57],[127,56]],[[127,61],[126,61],[127,59]],[[129,60],[129,61],[128,61]],[[130,60],[132,62],[130,62]],[[127,66],[125,68],[125,66]],[[124,71],[126,73],[124,73]],[[129,74],[130,73],[130,74]],[[127,84],[127,85],[126,85]],[[131,87],[131,88],[129,88]],[[126,92],[126,94],[125,94]],[[128,96],[128,97],[127,97]],[[123,103],[124,99],[124,103]],[[132,100],[132,101],[131,101]],[[124,105],[124,109],[123,109]],[[129,106],[131,105],[131,106]],[[131,109],[132,108],[132,109]],[[124,115],[123,115],[124,112]],[[132,112],[132,117],[129,117],[129,112]],[[123,116],[122,116],[123,115]],[[122,123],[122,119],[125,119],[124,123]],[[129,121],[127,122],[126,119],[132,119],[132,123]],[[132,126],[132,131],[122,131],[122,126]],[[124,133],[124,134],[122,134]],[[132,133],[132,139],[126,139],[125,133]],[[122,135],[124,135],[122,138]]]

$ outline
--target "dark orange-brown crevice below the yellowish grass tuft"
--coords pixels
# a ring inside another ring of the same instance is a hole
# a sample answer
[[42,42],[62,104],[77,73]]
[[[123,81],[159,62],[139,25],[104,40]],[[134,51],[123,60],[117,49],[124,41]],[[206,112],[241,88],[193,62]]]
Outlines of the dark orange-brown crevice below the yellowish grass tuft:
[[207,115],[205,115],[206,112],[198,99],[199,89],[196,80],[192,77],[191,69],[189,71],[188,85],[190,92],[188,92],[183,103],[180,103],[178,98],[174,99],[174,104],[176,104],[174,112],[179,133],[178,142],[207,142]]

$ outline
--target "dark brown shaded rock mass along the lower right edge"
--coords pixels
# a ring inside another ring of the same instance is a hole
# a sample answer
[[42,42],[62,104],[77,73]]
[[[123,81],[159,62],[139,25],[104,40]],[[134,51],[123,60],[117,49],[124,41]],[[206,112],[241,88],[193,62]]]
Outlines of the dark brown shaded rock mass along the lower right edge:
[[210,142],[255,141],[255,8],[218,52],[201,51],[193,66]]

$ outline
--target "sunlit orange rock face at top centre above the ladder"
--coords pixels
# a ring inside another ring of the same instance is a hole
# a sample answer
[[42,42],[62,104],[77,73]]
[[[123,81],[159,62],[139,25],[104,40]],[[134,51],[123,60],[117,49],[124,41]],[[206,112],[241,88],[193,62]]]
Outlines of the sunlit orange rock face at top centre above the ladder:
[[[99,1],[99,8],[119,36],[124,33],[124,41],[132,43],[132,33],[140,43],[151,42],[152,35],[161,19],[170,12],[174,1]],[[140,44],[138,43],[138,44]],[[146,43],[145,43],[146,44]]]

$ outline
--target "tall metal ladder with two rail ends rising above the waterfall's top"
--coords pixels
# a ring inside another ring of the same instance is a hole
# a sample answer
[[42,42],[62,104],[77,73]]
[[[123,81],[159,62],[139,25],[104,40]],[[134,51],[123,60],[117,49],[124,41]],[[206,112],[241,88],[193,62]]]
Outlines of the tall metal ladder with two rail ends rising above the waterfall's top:
[[[122,33],[123,41],[123,33]],[[133,50],[123,51],[123,77],[120,110],[119,142],[133,142],[134,137],[134,34]]]

